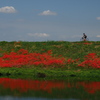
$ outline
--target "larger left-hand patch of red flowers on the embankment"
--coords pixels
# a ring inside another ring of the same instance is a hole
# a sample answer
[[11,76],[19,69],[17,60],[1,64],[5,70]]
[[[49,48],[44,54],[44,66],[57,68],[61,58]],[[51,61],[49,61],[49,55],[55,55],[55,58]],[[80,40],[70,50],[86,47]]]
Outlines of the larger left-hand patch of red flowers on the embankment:
[[10,52],[0,57],[0,67],[21,67],[23,65],[64,65],[65,59],[51,56],[51,50],[46,53],[28,53],[27,50],[20,49],[17,52]]

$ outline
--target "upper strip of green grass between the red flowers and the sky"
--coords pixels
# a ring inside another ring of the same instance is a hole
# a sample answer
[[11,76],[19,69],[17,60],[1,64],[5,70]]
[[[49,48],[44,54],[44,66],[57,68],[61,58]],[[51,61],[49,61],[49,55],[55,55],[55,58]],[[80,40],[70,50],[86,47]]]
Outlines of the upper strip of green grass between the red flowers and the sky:
[[[79,44],[80,43],[80,44]],[[88,53],[97,53],[100,55],[100,42],[90,42],[92,44],[85,45],[83,42],[66,42],[66,41],[47,41],[47,42],[21,42],[21,47],[14,47],[14,42],[0,42],[0,48],[4,52],[10,52],[12,49],[15,51],[23,48],[29,52],[46,52],[53,51],[53,55],[62,55],[70,58],[83,58]]]

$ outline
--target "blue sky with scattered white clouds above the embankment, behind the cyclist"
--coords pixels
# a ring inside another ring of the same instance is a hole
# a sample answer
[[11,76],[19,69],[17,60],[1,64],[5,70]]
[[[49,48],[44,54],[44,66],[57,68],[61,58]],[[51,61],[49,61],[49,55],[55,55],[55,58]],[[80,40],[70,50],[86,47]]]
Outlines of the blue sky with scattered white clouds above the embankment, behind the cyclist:
[[100,41],[100,0],[0,0],[0,41]]

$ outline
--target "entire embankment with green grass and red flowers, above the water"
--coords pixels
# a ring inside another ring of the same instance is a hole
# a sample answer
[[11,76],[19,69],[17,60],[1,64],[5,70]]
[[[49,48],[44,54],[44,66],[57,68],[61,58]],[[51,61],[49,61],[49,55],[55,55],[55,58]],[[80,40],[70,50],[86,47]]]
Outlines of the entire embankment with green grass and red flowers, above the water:
[[100,41],[0,42],[0,76],[100,80]]

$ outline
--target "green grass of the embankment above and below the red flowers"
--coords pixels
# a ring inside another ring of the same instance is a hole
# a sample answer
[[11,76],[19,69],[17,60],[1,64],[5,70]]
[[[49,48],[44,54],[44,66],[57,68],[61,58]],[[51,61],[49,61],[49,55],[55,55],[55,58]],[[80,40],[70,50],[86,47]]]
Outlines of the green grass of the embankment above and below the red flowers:
[[[44,42],[25,42],[20,41],[15,44],[16,41],[0,42],[0,57],[4,53],[9,53],[11,51],[18,51],[19,49],[26,49],[29,53],[44,53],[48,50],[52,50],[52,56],[64,57],[66,59],[78,59],[83,61],[84,56],[89,53],[96,53],[100,57],[100,41],[88,41],[87,42],[67,42],[67,41],[44,41]],[[79,63],[79,62],[77,62]],[[94,77],[100,78],[100,70],[87,69],[77,67],[77,64],[65,65],[63,68],[41,68],[41,66],[34,67],[23,66],[23,68],[0,68],[0,73],[2,75],[22,76],[22,77],[37,77],[38,73],[44,73],[46,77]]]

